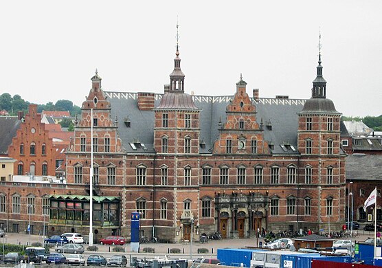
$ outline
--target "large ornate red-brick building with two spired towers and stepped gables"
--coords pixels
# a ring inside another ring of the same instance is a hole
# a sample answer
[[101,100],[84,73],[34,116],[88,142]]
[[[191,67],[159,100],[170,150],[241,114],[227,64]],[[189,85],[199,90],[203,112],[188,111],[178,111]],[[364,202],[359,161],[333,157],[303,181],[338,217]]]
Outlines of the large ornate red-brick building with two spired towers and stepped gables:
[[49,232],[89,232],[91,164],[95,241],[129,236],[135,211],[145,236],[168,241],[344,223],[341,113],[326,98],[321,56],[308,100],[249,96],[242,77],[232,96],[190,96],[178,49],[164,94],[104,91],[101,81],[91,78],[82,104],[67,183],[39,189],[49,194]]

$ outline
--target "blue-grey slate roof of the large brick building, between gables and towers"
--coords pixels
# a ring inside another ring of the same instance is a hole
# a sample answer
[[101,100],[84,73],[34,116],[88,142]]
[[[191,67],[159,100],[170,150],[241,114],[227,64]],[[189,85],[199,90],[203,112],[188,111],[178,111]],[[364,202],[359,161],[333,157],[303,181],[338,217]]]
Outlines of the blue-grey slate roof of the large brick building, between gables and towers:
[[[137,107],[137,93],[104,91],[107,100],[111,103],[111,117],[118,119],[118,134],[127,153],[155,153],[154,139],[154,111],[141,111]],[[164,94],[155,94],[155,107],[159,107]],[[214,141],[218,138],[218,122],[224,123],[226,107],[234,96],[191,96],[195,106],[201,109],[200,113],[200,139],[205,142],[205,148],[200,153],[210,153]],[[306,100],[260,98],[252,100],[256,106],[257,121],[264,122],[264,137],[274,144],[273,154],[299,154],[297,152],[297,113],[302,111]],[[129,118],[131,127],[126,127],[124,118]],[[272,130],[267,129],[271,122]],[[139,141],[145,145],[143,148],[133,148],[129,143]],[[296,150],[287,148],[283,150],[280,144],[291,144]]]

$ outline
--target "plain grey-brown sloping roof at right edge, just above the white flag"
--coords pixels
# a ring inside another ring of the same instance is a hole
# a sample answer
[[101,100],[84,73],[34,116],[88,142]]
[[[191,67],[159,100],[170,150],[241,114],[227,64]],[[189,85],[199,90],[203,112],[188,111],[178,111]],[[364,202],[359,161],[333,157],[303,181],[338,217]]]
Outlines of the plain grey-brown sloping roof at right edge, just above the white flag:
[[348,155],[346,157],[346,179],[382,181],[382,155]]

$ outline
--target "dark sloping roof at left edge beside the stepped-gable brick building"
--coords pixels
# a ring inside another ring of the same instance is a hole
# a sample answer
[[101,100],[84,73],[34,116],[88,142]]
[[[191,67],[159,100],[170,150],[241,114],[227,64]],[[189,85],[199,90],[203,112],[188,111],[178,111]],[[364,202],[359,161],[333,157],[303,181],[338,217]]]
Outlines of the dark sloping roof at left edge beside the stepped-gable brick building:
[[20,124],[21,120],[17,116],[0,116],[0,155],[8,155],[8,147]]

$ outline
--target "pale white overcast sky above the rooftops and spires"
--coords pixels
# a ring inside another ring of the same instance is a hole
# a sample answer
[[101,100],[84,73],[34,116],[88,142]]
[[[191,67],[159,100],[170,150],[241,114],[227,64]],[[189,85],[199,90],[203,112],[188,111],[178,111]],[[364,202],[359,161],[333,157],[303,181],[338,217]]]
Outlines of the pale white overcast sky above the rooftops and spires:
[[162,93],[179,16],[187,93],[232,95],[243,73],[249,96],[310,98],[321,27],[327,98],[378,116],[381,14],[381,0],[1,1],[0,94],[80,106],[95,68],[105,91]]

